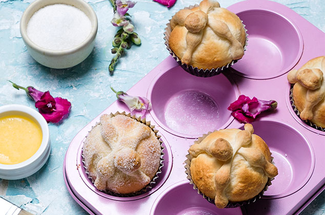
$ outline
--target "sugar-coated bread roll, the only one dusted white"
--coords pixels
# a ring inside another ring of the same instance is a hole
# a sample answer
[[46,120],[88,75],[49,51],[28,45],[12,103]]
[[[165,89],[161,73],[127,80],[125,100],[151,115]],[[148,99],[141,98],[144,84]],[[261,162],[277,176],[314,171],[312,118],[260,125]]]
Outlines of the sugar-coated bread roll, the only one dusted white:
[[83,147],[85,165],[99,190],[132,193],[156,175],[161,146],[151,128],[125,115],[104,114]]

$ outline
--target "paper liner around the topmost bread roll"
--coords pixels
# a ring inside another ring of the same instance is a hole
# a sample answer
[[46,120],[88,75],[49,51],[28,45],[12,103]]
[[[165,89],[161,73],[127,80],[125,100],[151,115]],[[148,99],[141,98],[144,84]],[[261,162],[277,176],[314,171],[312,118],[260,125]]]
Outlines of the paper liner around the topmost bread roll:
[[[192,9],[192,8],[195,8],[195,7],[198,7],[199,5],[194,5],[194,6],[189,6],[189,7],[185,7],[184,9]],[[171,19],[170,19],[171,20]],[[231,67],[232,65],[234,65],[235,62],[237,62],[239,59],[237,60],[233,60],[231,61],[230,63],[228,63],[227,65],[225,66],[222,66],[222,67],[218,67],[218,68],[213,68],[211,70],[209,69],[198,69],[197,67],[193,67],[192,65],[187,65],[185,63],[182,63],[181,60],[174,54],[174,52],[170,49],[169,47],[169,36],[172,32],[172,29],[170,27],[170,20],[169,20],[169,23],[166,24],[167,27],[165,28],[165,32],[164,32],[164,39],[165,39],[165,45],[166,45],[166,48],[167,50],[169,51],[169,54],[171,54],[173,56],[173,58],[176,60],[176,62],[178,63],[178,65],[184,69],[185,71],[187,71],[188,73],[192,74],[192,75],[195,75],[195,76],[198,76],[198,77],[211,77],[211,76],[215,76],[215,75],[218,75],[220,74],[223,70]],[[245,35],[246,35],[246,40],[245,40],[245,45],[243,47],[243,51],[245,52],[247,50],[247,45],[248,45],[248,33],[247,33],[247,29],[245,28],[245,25],[242,23],[241,21],[241,24],[245,30]]]

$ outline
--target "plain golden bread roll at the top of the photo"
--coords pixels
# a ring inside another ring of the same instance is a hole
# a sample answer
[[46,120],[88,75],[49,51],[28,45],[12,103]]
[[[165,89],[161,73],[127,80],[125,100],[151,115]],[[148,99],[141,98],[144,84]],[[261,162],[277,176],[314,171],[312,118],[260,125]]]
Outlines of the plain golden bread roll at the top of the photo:
[[240,19],[214,0],[178,11],[170,26],[169,47],[182,63],[211,70],[243,56],[246,34]]

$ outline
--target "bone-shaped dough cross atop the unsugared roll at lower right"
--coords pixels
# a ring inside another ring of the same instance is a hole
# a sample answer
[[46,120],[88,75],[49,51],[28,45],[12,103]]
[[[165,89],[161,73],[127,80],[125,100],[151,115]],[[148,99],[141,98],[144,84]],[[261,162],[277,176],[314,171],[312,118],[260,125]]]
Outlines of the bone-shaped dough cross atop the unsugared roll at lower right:
[[[224,164],[217,169],[214,175],[214,199],[215,205],[218,208],[226,207],[229,202],[229,197],[227,196],[225,190],[230,185],[232,176],[231,168],[236,154],[239,154],[245,158],[251,166],[260,167],[263,169],[265,175],[269,178],[273,178],[278,174],[277,168],[268,161],[269,158],[266,158],[266,156],[261,152],[261,149],[249,147],[252,142],[252,134],[254,132],[253,126],[251,124],[245,124],[244,128],[245,130],[243,131],[231,130],[237,132],[235,134],[235,138],[228,138],[231,143],[224,138],[217,138],[217,133],[214,133],[215,136],[209,135],[210,137],[207,136],[200,143],[193,144],[189,149],[192,159],[196,158],[201,153],[206,153],[220,161],[225,161]],[[265,184],[263,186],[265,186]]]

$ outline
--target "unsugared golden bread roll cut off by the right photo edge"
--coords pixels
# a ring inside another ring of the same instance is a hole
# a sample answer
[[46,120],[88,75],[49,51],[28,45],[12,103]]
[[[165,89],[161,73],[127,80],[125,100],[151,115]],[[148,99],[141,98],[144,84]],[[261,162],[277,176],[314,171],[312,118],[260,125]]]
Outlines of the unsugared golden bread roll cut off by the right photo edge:
[[302,120],[325,128],[325,56],[309,60],[299,70],[288,73],[294,83],[293,100]]

